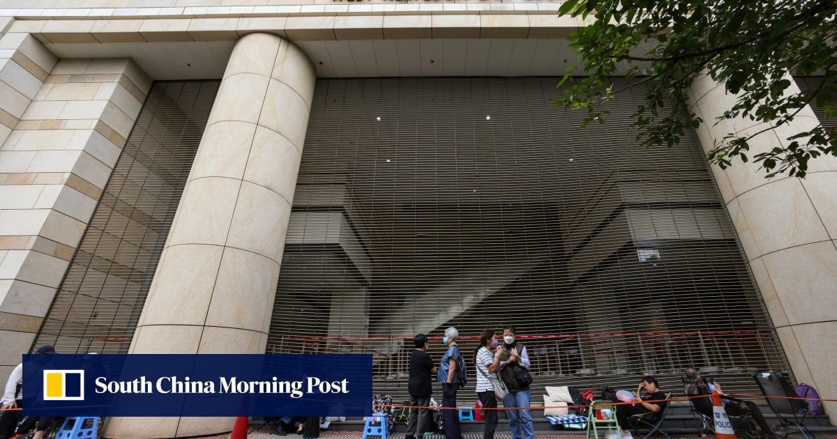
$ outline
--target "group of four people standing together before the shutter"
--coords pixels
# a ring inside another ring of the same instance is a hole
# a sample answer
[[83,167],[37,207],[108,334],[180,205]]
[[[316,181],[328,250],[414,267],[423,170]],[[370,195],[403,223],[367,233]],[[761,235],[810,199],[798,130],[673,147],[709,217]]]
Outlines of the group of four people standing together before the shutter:
[[[528,384],[517,380],[515,376],[517,370],[529,369],[529,356],[526,347],[518,343],[515,336],[514,326],[506,326],[502,337],[498,337],[493,329],[485,329],[480,334],[480,346],[474,352],[476,393],[485,409],[484,439],[494,439],[497,427],[497,399],[491,380],[501,380],[508,389],[503,407],[509,420],[512,439],[533,439],[535,436],[529,412],[531,390]],[[465,359],[457,345],[458,337],[459,331],[456,328],[445,329],[442,343],[448,346],[448,350],[442,355],[438,367],[434,366],[427,353],[427,335],[417,334],[413,339],[415,349],[410,355],[408,391],[410,406],[419,408],[410,411],[405,439],[415,439],[417,432],[420,436],[424,431],[431,430],[429,404],[434,374],[442,384],[440,416],[444,421],[444,436],[447,439],[461,439],[459,412],[455,407],[457,392],[465,378]]]

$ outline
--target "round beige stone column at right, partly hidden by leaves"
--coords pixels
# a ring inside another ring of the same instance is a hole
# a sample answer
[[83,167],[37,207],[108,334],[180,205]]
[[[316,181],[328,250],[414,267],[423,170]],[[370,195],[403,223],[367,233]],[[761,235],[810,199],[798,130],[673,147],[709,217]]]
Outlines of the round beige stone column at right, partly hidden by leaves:
[[[798,91],[796,84],[789,91]],[[706,151],[729,132],[747,135],[768,128],[748,119],[713,125],[735,100],[709,77],[692,86],[693,110],[706,121],[698,130]],[[751,156],[784,147],[790,135],[817,123],[806,106],[791,124],[757,135]],[[837,395],[837,159],[812,161],[804,179],[767,180],[758,167],[736,161],[727,170],[712,166],[712,172],[793,374],[820,395]],[[826,403],[826,411],[837,422],[837,403]]]

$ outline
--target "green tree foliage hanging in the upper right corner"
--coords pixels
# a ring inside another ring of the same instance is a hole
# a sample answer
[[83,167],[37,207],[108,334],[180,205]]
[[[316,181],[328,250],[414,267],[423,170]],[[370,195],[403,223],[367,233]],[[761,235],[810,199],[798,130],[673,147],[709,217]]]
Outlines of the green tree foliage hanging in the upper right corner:
[[[702,123],[719,126],[723,120],[793,126],[794,116],[811,102],[826,117],[837,117],[834,0],[715,0],[711,6],[703,0],[567,0],[559,13],[595,18],[570,36],[578,59],[559,84],[564,93],[553,100],[585,111],[583,126],[603,122],[603,105],[632,92],[630,87],[610,89],[608,77],[614,75],[648,85],[631,116],[636,138],[645,146],[674,146],[686,129]],[[586,76],[576,77],[576,71]],[[796,91],[788,72],[822,75],[823,82],[819,89]],[[717,120],[701,120],[685,105],[687,91],[700,74],[736,95]],[[785,146],[751,157],[753,135],[729,133],[707,158],[721,168],[733,166],[733,158],[752,158],[765,176],[802,177],[810,160],[837,156],[837,127],[820,124],[791,133]]]

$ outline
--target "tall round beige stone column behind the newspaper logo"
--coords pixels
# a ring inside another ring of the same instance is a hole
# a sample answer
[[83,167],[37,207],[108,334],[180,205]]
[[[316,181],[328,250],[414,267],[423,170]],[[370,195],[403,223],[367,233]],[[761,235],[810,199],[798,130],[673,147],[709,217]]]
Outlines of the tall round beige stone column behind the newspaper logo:
[[[131,353],[264,353],[315,83],[306,54],[285,39],[236,43]],[[233,423],[116,418],[105,436],[201,436]]]

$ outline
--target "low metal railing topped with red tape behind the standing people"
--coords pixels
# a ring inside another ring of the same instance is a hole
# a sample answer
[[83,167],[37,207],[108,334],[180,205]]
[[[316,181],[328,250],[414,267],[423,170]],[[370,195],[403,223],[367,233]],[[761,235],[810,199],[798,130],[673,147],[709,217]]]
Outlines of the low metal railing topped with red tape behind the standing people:
[[[372,355],[375,380],[398,380],[408,375],[413,334],[372,336],[271,335],[265,354],[367,354]],[[781,370],[772,351],[775,334],[766,329],[618,331],[519,334],[526,345],[532,375],[598,375],[594,371],[676,370],[701,360],[723,370]],[[127,349],[131,336],[94,336],[101,351]],[[429,335],[432,342],[439,335]],[[466,344],[478,335],[460,334]],[[431,350],[436,348],[431,347]],[[715,360],[710,361],[709,359]],[[625,383],[618,383],[624,385]],[[740,391],[756,391],[741,389]],[[406,396],[406,395],[399,395]]]

